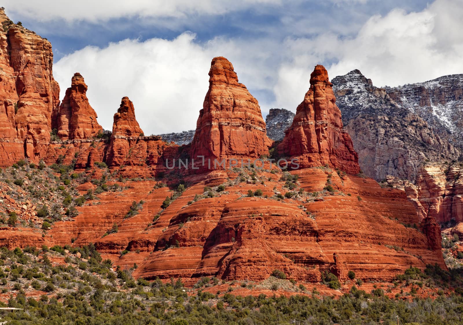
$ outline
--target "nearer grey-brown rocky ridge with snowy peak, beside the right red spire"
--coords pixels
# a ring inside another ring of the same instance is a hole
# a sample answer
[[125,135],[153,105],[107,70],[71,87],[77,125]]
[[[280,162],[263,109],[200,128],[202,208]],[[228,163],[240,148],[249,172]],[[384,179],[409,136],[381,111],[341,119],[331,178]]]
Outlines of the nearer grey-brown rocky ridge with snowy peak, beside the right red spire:
[[390,89],[373,86],[360,71],[338,76],[332,83],[345,130],[369,177],[381,181],[393,175],[415,182],[423,162],[461,155],[461,148],[449,137],[441,137],[417,110],[395,101]]

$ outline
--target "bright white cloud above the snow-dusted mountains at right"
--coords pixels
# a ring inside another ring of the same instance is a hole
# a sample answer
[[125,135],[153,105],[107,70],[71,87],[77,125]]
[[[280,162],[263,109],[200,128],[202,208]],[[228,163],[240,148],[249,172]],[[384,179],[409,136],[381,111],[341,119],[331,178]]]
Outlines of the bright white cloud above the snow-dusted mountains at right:
[[331,78],[360,69],[377,86],[463,73],[461,17],[459,0],[436,0],[420,12],[394,9],[374,15],[354,37],[326,32],[288,38],[284,47],[293,55],[278,68],[275,106],[294,110],[316,64],[324,64]]

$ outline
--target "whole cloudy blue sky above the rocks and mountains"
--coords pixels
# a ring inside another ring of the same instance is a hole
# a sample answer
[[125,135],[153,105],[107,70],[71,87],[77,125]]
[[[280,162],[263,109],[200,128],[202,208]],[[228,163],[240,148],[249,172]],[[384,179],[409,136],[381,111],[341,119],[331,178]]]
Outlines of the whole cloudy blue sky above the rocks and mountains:
[[[145,134],[194,129],[213,56],[265,116],[295,111],[313,66],[360,69],[376,86],[463,73],[460,0],[14,1],[8,16],[48,38],[62,96],[74,72],[106,129],[121,97]],[[25,9],[26,8],[26,9]]]

